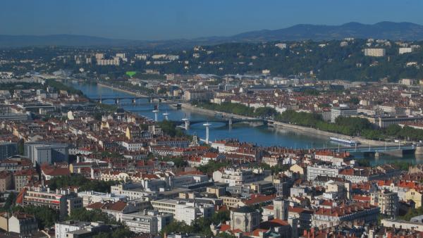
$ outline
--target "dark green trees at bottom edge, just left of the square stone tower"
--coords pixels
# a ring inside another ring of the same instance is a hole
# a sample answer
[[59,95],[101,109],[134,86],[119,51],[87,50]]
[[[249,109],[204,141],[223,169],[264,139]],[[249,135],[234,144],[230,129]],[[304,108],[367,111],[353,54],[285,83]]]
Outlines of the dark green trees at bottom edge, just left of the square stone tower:
[[[179,222],[177,220],[173,220],[170,224],[166,225],[163,229],[161,229],[161,235],[169,234],[172,232],[185,232],[185,233],[196,233],[202,234],[204,236],[213,236],[212,230],[210,230],[210,225],[218,225],[219,223],[229,220],[230,213],[229,211],[219,211],[214,213],[212,218],[198,218],[192,224],[188,225],[184,222]],[[231,236],[228,234],[218,234],[218,237],[223,238],[230,238]]]

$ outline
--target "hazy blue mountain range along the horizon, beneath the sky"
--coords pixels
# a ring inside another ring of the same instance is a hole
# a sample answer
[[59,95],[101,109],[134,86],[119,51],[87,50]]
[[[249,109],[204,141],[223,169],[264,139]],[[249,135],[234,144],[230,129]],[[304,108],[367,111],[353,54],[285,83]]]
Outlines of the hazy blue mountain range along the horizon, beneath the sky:
[[231,37],[201,37],[160,41],[108,39],[83,35],[0,35],[0,47],[21,46],[135,46],[145,49],[180,49],[193,45],[228,42],[271,42],[312,39],[343,39],[345,37],[423,40],[423,25],[415,23],[381,22],[374,25],[345,23],[343,25],[300,24],[279,30],[244,32]]

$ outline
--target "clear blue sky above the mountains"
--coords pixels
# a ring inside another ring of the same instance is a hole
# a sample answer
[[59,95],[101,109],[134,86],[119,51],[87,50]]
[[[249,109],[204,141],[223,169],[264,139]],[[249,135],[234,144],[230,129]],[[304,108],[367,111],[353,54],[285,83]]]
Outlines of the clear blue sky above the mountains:
[[1,0],[0,35],[191,39],[384,20],[423,25],[422,0]]

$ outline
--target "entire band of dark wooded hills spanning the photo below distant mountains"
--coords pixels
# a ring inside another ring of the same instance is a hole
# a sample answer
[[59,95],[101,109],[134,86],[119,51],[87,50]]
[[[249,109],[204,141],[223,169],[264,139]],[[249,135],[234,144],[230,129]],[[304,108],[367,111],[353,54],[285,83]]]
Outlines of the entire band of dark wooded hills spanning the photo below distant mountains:
[[[286,46],[286,48],[283,48]],[[364,56],[364,49],[385,49],[381,57]],[[400,54],[400,48],[411,51]],[[30,50],[28,50],[30,49]],[[133,47],[107,49],[106,57],[125,53],[130,61],[120,65],[76,64],[75,55],[95,54],[104,49],[73,49],[66,47],[30,47],[8,49],[0,53],[5,62],[16,60],[37,61],[37,70],[69,69],[79,73],[80,68],[110,77],[120,77],[128,71],[158,70],[161,74],[259,74],[269,70],[271,75],[289,77],[305,73],[319,80],[377,81],[386,78],[398,82],[402,78],[423,79],[423,42],[393,40],[348,39],[331,41],[226,43],[189,47],[185,50],[144,51]],[[146,54],[144,60],[135,54]],[[154,54],[175,56],[173,60],[153,58]],[[63,61],[60,57],[71,60]],[[54,64],[51,65],[51,62]],[[26,73],[32,64],[0,64],[0,71]],[[47,63],[47,64],[46,64]],[[43,66],[45,65],[45,66]],[[51,67],[48,68],[47,67]]]

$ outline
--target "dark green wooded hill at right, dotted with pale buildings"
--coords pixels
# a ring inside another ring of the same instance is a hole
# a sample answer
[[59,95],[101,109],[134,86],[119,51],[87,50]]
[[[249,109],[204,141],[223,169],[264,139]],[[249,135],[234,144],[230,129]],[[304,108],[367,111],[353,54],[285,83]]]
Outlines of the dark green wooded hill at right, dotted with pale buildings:
[[[401,78],[423,78],[422,47],[413,49],[412,53],[399,54],[400,46],[393,41],[373,42],[369,46],[365,39],[355,39],[347,42],[346,46],[341,46],[341,42],[284,42],[286,49],[278,48],[278,42],[203,46],[197,51],[176,51],[173,54],[180,56],[179,61],[149,65],[149,68],[163,73],[216,75],[262,73],[262,70],[283,76],[312,72],[320,80],[376,81],[387,77],[389,81],[396,81]],[[419,46],[423,42],[412,42],[410,45]],[[364,56],[366,48],[386,49],[386,56]],[[189,64],[185,65],[185,61]]]

